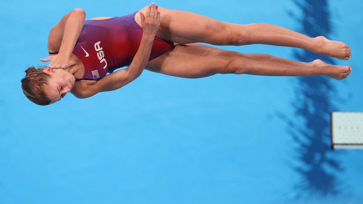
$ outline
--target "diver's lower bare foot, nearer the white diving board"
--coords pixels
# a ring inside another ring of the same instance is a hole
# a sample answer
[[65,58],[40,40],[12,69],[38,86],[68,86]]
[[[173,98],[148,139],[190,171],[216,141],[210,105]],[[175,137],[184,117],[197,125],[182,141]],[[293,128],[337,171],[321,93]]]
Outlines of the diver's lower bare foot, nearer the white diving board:
[[331,77],[337,80],[347,78],[352,70],[351,66],[340,66],[340,65],[330,65],[326,64],[321,60],[314,60],[311,62],[314,66],[322,68],[322,75]]

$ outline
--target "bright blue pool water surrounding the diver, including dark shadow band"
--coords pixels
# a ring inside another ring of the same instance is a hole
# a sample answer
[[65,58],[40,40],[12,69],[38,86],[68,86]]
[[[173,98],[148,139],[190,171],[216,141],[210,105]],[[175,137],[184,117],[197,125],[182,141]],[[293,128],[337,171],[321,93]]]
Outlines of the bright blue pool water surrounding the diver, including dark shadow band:
[[[350,65],[327,77],[145,70],[119,90],[37,106],[20,88],[47,65],[50,28],[74,8],[123,16],[149,1],[9,1],[0,86],[0,203],[363,203],[363,151],[331,150],[329,113],[363,111],[363,2],[180,1],[157,5],[230,23],[270,23],[350,45],[348,61],[297,48],[218,46]],[[162,15],[162,14],[161,14]]]

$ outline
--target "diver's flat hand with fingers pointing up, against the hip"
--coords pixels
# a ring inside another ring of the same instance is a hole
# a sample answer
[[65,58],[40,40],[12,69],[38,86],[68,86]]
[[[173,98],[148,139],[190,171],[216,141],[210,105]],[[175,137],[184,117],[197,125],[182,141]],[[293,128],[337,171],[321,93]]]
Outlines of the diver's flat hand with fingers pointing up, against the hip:
[[160,11],[154,3],[147,8],[146,16],[140,11],[141,25],[144,34],[155,37],[160,26]]

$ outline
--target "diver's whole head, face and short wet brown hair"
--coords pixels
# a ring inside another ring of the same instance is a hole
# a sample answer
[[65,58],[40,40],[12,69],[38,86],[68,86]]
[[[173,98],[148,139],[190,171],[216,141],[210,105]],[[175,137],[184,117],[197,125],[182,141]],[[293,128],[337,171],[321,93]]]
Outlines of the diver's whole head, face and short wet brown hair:
[[49,105],[63,98],[74,86],[76,78],[63,69],[50,69],[33,66],[25,70],[26,76],[21,79],[21,88],[25,96],[38,105]]

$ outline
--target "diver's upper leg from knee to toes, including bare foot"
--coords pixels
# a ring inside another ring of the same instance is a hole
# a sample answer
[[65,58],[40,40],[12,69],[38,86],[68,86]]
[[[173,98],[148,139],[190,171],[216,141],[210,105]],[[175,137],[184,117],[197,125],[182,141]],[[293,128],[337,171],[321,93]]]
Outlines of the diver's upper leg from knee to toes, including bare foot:
[[234,45],[266,44],[288,46],[310,50],[318,54],[347,60],[350,57],[349,46],[344,42],[328,40],[323,36],[309,37],[287,28],[267,24],[252,23],[246,25],[228,23],[231,28]]

